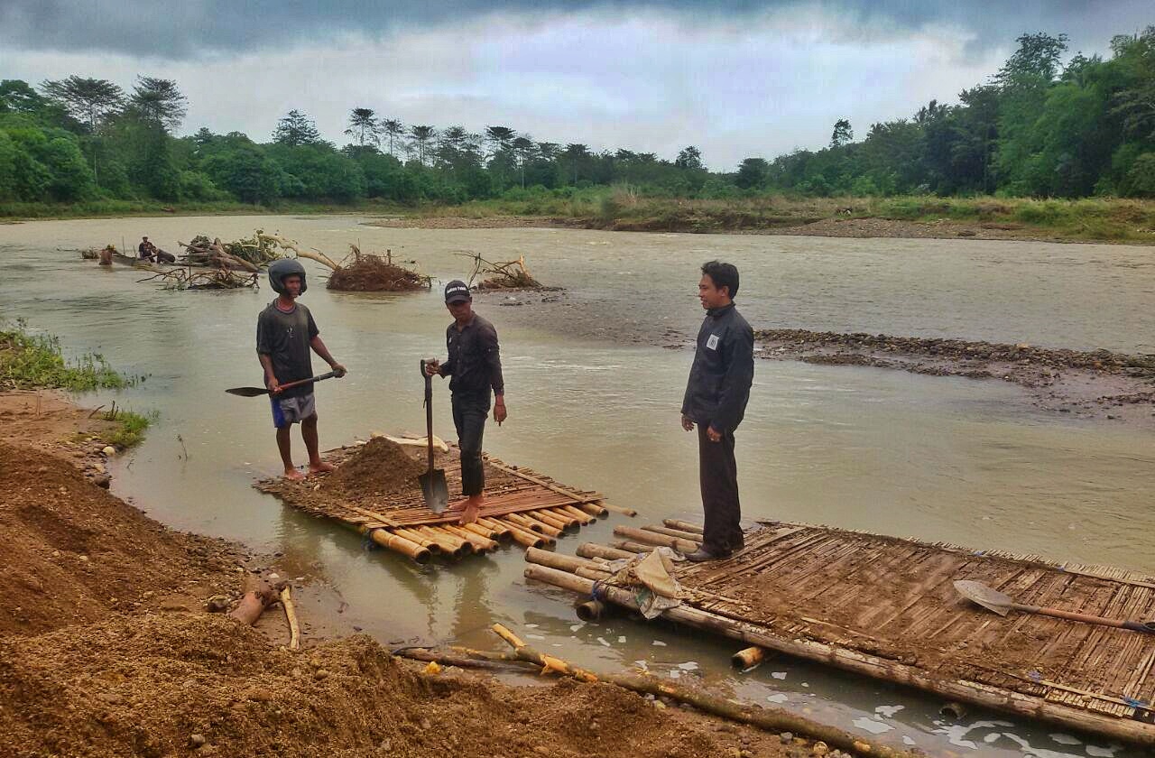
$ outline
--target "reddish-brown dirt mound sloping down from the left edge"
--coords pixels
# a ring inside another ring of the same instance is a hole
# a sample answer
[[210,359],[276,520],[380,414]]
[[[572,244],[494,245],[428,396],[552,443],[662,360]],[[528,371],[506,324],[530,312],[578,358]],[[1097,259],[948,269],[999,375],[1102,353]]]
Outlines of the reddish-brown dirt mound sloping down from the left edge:
[[72,463],[0,443],[0,634],[234,592],[244,556],[165,529]]

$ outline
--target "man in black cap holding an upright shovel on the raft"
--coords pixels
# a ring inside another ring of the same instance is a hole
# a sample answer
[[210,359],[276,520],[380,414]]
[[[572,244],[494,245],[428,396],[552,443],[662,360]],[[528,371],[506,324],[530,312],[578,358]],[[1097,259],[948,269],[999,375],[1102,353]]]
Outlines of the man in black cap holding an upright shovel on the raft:
[[474,313],[469,285],[460,280],[446,284],[445,305],[453,315],[453,324],[445,332],[449,357],[445,363],[426,363],[425,371],[431,377],[450,377],[453,424],[457,428],[457,446],[461,448],[461,492],[465,500],[449,510],[460,510],[461,522],[471,523],[477,520],[485,503],[482,434],[490,413],[490,392],[494,396],[493,421],[500,426],[506,419],[505,381],[501,378],[497,329],[489,320]]

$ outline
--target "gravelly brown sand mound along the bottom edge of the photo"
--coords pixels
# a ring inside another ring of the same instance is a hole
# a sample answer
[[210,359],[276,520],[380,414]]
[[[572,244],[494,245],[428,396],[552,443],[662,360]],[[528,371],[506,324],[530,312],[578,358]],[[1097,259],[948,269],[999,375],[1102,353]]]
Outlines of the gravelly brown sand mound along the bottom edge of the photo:
[[[612,685],[426,675],[364,636],[274,649],[222,616],[0,639],[0,744],[20,757],[777,753],[777,735],[702,726]],[[193,735],[207,743],[195,753]]]

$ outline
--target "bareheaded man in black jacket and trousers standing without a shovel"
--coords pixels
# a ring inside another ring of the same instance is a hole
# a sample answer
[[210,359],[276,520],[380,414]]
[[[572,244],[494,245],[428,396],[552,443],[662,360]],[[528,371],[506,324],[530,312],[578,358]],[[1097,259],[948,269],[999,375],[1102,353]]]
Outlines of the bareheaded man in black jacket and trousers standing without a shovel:
[[743,547],[733,431],[746,413],[754,380],[754,332],[733,305],[737,293],[737,268],[718,261],[702,265],[698,298],[706,319],[681,402],[681,428],[688,432],[698,425],[706,534],[702,547],[686,556],[690,560],[725,558]]

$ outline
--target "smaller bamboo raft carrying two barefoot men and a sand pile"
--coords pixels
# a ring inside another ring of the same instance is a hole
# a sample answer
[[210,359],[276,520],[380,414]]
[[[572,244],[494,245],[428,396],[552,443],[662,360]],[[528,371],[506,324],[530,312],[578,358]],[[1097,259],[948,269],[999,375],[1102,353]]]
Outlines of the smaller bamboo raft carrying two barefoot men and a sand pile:
[[[322,456],[340,466],[357,449],[358,446],[350,445],[328,451]],[[631,508],[605,503],[598,492],[561,485],[532,469],[508,466],[491,455],[485,455],[484,462],[485,507],[475,523],[459,523],[460,514],[433,513],[425,507],[419,491],[366,503],[314,498],[312,493],[318,486],[313,484],[314,478],[307,480],[307,484],[273,478],[255,486],[275,495],[285,505],[330,519],[418,564],[426,564],[434,557],[456,560],[494,552],[507,544],[552,547],[559,537],[604,519],[610,512],[636,515]],[[449,448],[438,466],[445,469],[450,492],[460,492],[461,456],[456,446]]]

